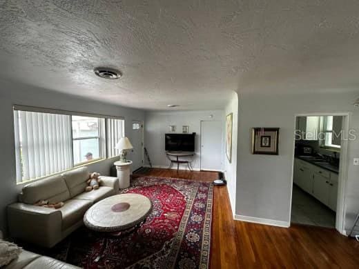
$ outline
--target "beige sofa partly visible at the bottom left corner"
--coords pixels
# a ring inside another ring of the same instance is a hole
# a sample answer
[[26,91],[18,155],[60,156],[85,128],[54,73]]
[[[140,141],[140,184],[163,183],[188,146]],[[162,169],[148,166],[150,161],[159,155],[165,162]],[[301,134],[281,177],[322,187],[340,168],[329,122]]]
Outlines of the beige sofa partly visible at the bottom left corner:
[[34,252],[23,250],[17,259],[11,261],[4,269],[76,269],[77,266],[64,263],[57,259],[41,256]]

